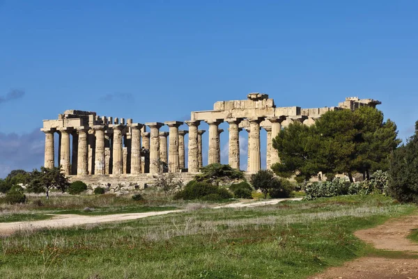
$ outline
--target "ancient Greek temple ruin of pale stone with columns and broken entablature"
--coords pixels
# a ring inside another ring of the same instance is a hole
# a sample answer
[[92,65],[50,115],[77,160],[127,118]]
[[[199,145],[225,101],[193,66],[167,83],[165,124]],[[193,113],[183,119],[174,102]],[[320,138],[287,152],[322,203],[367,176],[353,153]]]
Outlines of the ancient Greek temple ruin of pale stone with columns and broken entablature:
[[[185,121],[133,122],[132,119],[99,116],[91,111],[68,110],[56,120],[43,120],[45,133],[45,167],[62,166],[65,175],[141,175],[160,171],[161,162],[171,173],[199,173],[203,166],[202,137],[208,136],[208,164],[220,163],[219,124],[229,124],[229,165],[240,168],[240,132],[247,131],[247,172],[261,169],[261,129],[267,133],[266,166],[279,161],[272,150],[272,138],[282,127],[299,121],[312,125],[320,115],[336,109],[357,109],[380,104],[374,99],[348,97],[338,106],[301,109],[299,106],[277,107],[268,95],[250,93],[247,99],[216,102],[213,110],[192,111]],[[199,129],[208,123],[208,133]],[[164,125],[169,131],[160,131]],[[148,131],[149,129],[149,131]],[[58,146],[54,146],[58,136]],[[185,137],[188,152],[185,154]],[[57,153],[57,154],[56,154]],[[56,156],[57,155],[57,156]],[[55,158],[58,157],[58,161]],[[185,164],[187,159],[187,165]]]

